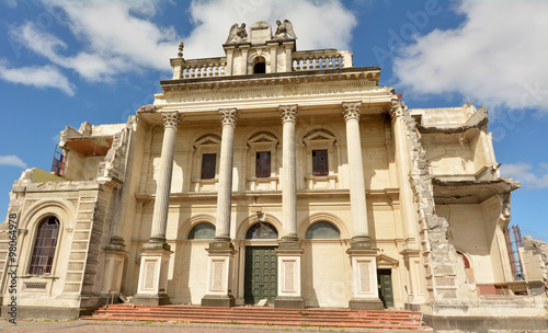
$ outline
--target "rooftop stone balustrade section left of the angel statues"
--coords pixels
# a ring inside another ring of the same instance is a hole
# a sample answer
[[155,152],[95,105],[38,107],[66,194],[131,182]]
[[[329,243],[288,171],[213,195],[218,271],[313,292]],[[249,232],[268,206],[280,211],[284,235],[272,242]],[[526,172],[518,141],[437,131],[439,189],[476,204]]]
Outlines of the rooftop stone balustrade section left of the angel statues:
[[191,60],[180,58],[172,61],[174,80],[224,77],[227,67],[226,57]]

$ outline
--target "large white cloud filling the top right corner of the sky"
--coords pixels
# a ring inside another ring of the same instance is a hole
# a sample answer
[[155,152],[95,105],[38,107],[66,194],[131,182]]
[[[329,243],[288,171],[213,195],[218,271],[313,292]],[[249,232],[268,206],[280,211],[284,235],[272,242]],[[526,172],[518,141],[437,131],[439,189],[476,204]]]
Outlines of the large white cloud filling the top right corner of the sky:
[[548,112],[548,2],[464,0],[457,28],[415,36],[393,72],[415,94],[459,93],[490,106]]

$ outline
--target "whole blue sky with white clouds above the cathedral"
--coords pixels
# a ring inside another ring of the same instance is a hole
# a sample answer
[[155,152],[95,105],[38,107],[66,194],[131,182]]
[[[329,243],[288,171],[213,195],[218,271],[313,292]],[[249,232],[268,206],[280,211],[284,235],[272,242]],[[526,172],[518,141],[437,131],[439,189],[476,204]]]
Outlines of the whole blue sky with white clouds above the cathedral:
[[[236,22],[289,19],[298,49],[381,66],[410,108],[489,107],[512,223],[548,240],[546,1],[0,0],[0,216],[25,168],[50,169],[65,126],[125,123],[152,102],[169,58],[222,55]],[[1,220],[1,218],[0,218]]]

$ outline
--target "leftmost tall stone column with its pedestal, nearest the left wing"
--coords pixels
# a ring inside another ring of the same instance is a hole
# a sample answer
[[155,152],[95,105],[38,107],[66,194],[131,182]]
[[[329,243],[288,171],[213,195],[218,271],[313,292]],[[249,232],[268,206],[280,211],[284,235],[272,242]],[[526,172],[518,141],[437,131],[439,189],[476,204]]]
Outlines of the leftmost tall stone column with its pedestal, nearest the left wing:
[[164,131],[152,215],[152,230],[149,242],[142,245],[139,285],[137,295],[134,298],[134,302],[137,305],[158,306],[170,302],[167,292],[168,264],[173,252],[170,251],[170,245],[165,242],[165,227],[168,225],[171,176],[179,122],[179,112],[163,114]]

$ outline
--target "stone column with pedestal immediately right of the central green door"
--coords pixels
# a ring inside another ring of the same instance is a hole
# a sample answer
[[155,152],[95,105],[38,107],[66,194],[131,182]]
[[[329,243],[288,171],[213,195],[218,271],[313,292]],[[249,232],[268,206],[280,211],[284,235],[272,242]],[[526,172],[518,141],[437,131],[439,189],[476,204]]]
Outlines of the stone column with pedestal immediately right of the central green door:
[[302,250],[297,237],[297,159],[295,151],[295,123],[297,105],[279,105],[283,138],[282,210],[284,232],[276,250],[278,262],[276,308],[304,309],[300,262]]

